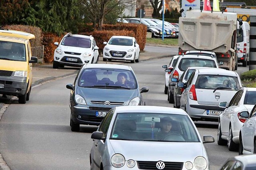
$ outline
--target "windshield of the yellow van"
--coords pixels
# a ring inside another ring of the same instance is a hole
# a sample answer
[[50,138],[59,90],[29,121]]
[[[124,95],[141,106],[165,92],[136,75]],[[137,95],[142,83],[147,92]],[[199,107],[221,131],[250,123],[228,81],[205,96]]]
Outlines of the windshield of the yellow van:
[[0,59],[26,61],[25,44],[0,41]]

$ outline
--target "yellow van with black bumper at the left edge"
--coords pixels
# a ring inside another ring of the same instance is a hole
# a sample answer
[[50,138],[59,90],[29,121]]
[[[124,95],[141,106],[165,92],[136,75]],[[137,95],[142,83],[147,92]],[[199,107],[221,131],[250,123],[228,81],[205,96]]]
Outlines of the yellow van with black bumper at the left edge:
[[0,94],[17,96],[22,104],[29,100],[32,63],[37,63],[31,54],[32,38],[30,33],[0,29]]

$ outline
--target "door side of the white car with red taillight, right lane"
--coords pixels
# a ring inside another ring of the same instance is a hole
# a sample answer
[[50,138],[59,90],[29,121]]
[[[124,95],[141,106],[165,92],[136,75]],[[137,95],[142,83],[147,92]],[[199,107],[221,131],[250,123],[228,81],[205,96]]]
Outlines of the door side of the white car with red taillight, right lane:
[[222,113],[221,116],[222,119],[220,119],[220,125],[221,125],[221,132],[223,135],[228,136],[229,133],[229,123],[231,116],[235,113],[235,108],[238,105],[238,102],[240,101],[242,94],[244,93],[244,90],[239,90],[236,92],[236,94],[231,99],[228,108]]

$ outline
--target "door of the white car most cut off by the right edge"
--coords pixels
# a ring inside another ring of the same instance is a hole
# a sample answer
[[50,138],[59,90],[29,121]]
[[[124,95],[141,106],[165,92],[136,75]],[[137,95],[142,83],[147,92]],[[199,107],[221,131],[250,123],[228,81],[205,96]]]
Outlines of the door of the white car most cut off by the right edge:
[[[256,105],[255,105],[256,106]],[[255,123],[256,123],[256,107],[252,109],[249,119],[244,123],[242,128],[242,141],[244,150],[252,151],[254,149]]]

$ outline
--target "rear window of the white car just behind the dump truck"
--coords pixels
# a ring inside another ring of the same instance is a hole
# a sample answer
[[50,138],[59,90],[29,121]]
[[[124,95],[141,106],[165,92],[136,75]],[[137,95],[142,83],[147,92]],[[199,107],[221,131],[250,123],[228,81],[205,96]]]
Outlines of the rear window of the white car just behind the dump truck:
[[178,65],[180,71],[185,71],[188,67],[214,67],[216,64],[212,59],[202,58],[182,58]]

